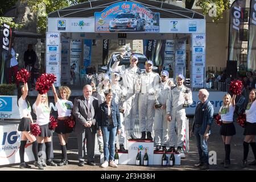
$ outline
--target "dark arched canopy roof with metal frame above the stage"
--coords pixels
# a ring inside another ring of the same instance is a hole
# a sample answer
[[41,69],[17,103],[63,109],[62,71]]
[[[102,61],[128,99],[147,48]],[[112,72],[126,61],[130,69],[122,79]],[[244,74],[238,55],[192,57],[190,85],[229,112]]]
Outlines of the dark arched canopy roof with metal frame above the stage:
[[[190,19],[204,19],[204,15],[196,13],[195,11],[184,9],[183,7],[170,5],[162,1],[152,0],[126,0],[127,2],[137,2],[146,6],[154,13],[160,13],[160,18],[190,18]],[[100,12],[110,5],[123,2],[123,0],[95,0],[80,3],[66,7],[61,10],[53,11],[48,14],[48,18],[75,18],[75,17],[93,17],[95,12]]]

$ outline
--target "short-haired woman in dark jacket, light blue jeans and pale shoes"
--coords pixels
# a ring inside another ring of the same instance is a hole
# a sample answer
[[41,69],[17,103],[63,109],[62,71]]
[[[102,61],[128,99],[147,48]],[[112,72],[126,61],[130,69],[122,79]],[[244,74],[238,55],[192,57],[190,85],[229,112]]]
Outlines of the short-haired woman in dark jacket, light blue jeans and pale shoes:
[[98,134],[103,135],[104,141],[104,160],[101,167],[108,166],[117,167],[114,163],[114,150],[115,139],[117,134],[121,133],[121,120],[120,113],[115,104],[112,90],[109,93],[105,93],[106,101],[100,105],[100,111],[98,112]]

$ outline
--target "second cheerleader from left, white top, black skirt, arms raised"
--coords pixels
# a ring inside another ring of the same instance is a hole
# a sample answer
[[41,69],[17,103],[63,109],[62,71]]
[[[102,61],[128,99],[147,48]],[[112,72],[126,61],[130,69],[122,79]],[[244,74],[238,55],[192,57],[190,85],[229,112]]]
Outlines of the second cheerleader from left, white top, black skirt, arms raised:
[[[37,137],[38,140],[38,152],[43,167],[57,166],[51,160],[51,146],[52,146],[52,133],[49,129],[49,104],[47,94],[38,94],[35,104],[33,104],[33,110],[36,114],[36,123],[39,125],[41,133]],[[46,163],[43,159],[43,143],[46,145]]]

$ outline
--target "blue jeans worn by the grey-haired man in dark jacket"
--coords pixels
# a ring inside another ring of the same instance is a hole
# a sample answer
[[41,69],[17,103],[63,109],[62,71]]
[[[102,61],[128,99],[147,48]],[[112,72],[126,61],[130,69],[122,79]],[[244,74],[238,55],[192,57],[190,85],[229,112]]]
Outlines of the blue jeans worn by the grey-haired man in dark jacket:
[[194,135],[196,138],[196,146],[199,152],[199,160],[201,163],[209,164],[209,154],[208,154],[208,143],[204,139],[203,135],[200,135],[201,127],[195,127]]

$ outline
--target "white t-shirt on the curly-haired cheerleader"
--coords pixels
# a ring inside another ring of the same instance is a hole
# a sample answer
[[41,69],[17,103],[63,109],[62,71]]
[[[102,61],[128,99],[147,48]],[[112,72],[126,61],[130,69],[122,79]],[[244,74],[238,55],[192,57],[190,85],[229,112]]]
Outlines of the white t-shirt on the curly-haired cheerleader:
[[71,101],[58,99],[56,102],[56,107],[58,111],[58,117],[71,116],[71,111],[73,108],[73,103]]

